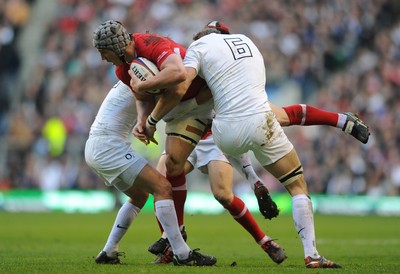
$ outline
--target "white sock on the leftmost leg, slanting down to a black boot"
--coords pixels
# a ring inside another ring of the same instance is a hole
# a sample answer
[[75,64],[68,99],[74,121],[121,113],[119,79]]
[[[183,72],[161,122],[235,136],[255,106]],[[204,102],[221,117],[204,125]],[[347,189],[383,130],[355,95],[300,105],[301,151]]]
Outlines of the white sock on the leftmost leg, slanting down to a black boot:
[[107,243],[103,249],[108,256],[114,256],[118,252],[119,242],[128,231],[133,219],[135,219],[139,212],[140,208],[134,206],[130,202],[126,202],[121,206],[110,235],[108,236]]

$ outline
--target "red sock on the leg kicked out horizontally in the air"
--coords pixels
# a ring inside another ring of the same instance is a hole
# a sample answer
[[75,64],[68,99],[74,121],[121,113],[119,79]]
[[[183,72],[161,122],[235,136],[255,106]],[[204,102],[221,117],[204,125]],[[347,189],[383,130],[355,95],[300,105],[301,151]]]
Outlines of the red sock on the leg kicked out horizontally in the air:
[[339,115],[309,105],[298,104],[283,107],[289,116],[290,125],[327,125],[336,127]]

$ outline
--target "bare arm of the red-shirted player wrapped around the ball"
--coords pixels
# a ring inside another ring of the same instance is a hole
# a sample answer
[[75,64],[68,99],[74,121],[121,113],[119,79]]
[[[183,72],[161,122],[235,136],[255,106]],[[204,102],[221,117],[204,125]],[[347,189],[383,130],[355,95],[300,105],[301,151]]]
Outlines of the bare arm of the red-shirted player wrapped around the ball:
[[129,71],[131,76],[131,87],[138,94],[145,91],[172,88],[175,85],[185,81],[186,70],[183,66],[182,59],[177,54],[170,54],[160,66],[160,72],[146,80],[141,81],[135,74]]

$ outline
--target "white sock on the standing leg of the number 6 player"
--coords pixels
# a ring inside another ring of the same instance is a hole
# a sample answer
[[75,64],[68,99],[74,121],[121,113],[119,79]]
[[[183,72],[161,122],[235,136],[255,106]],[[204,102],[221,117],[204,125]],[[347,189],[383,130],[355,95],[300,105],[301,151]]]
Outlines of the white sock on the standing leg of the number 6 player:
[[314,214],[311,200],[307,195],[300,194],[292,197],[293,220],[304,248],[304,258],[318,258],[315,242]]

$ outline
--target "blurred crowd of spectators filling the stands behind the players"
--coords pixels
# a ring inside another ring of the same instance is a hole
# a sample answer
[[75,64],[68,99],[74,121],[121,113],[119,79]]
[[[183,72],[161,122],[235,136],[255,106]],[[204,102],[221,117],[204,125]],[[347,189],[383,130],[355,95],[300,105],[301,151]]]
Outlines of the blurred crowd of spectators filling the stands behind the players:
[[[351,111],[369,125],[366,145],[338,128],[285,129],[311,193],[400,195],[399,1],[58,0],[15,108],[13,82],[24,64],[18,33],[40,20],[29,16],[39,1],[0,2],[0,188],[104,188],[83,158],[90,125],[116,82],[113,66],[91,44],[101,22],[119,20],[131,32],[188,46],[216,19],[259,46],[272,102]],[[18,12],[7,11],[11,4]]]

